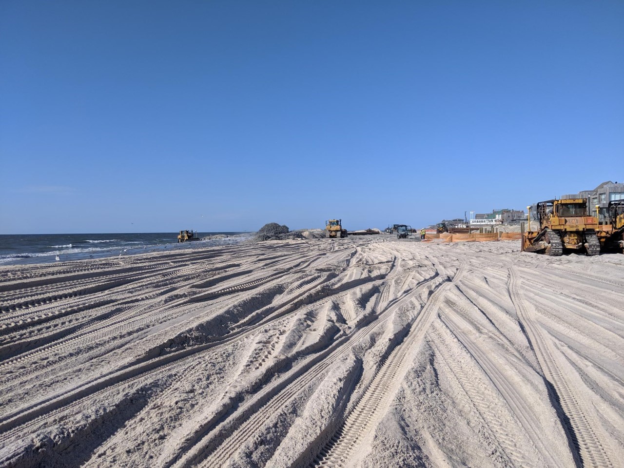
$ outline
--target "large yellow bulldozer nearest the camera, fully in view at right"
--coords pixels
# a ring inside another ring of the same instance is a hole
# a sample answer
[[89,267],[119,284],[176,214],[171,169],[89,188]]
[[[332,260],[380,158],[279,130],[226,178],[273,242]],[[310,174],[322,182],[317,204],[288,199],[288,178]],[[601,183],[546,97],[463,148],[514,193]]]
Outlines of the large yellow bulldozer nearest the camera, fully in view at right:
[[587,201],[583,198],[539,202],[536,211],[539,230],[523,233],[522,251],[551,256],[562,255],[565,250],[587,255],[600,253],[598,219],[588,216]]

